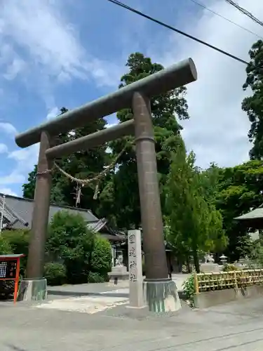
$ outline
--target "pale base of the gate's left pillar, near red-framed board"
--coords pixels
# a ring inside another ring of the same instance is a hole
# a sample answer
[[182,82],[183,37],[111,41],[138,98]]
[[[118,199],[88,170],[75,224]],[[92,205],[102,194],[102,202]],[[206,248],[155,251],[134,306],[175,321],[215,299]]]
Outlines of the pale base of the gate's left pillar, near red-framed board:
[[47,291],[45,278],[22,279],[18,293],[18,301],[46,300],[48,296]]

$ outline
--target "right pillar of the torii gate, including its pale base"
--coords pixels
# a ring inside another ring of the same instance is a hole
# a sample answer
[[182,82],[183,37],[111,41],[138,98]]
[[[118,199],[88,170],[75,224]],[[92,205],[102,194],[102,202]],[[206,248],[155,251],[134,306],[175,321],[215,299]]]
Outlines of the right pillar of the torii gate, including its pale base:
[[168,278],[154,126],[151,120],[150,100],[142,93],[136,92],[133,95],[133,115],[146,265],[145,299],[151,311],[175,311],[181,308],[181,303],[175,282]]

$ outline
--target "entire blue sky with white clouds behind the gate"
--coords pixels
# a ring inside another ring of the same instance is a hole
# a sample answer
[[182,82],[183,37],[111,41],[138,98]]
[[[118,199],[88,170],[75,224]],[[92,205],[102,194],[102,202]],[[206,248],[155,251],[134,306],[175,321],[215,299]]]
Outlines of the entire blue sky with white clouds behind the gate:
[[[191,0],[126,0],[189,34],[248,60],[255,35],[204,11]],[[224,0],[200,0],[259,35],[262,28]],[[239,3],[257,15],[262,1]],[[248,119],[241,111],[245,67],[106,0],[0,0],[0,192],[22,194],[39,145],[19,149],[15,134],[115,91],[130,53],[168,66],[192,57],[184,140],[197,164],[233,166],[248,159]],[[115,123],[109,117],[109,124]]]

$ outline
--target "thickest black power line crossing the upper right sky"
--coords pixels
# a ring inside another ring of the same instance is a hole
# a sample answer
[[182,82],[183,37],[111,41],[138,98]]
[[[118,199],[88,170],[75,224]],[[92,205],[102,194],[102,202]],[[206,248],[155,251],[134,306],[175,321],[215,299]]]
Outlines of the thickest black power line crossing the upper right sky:
[[219,53],[222,53],[223,55],[226,55],[226,56],[228,56],[229,58],[233,58],[234,60],[236,60],[236,61],[238,61],[238,62],[241,62],[241,63],[243,63],[243,64],[245,64],[245,65],[248,65],[248,62],[245,61],[245,60],[243,60],[242,58],[238,58],[237,56],[232,55],[231,53],[228,53],[227,51],[224,51],[224,50],[222,50],[221,48],[217,48],[217,46],[213,46],[213,45],[211,45],[211,44],[208,44],[206,41],[203,41],[203,40],[201,40],[201,39],[198,39],[198,38],[196,38],[196,37],[193,37],[192,35],[187,34],[186,32],[183,32],[183,31],[180,30],[180,29],[177,29],[177,28],[175,28],[175,27],[172,27],[172,26],[170,26],[170,25],[167,25],[166,23],[161,22],[160,20],[157,20],[156,18],[153,18],[153,17],[151,17],[151,16],[149,16],[149,15],[146,15],[145,13],[142,13],[142,12],[140,12],[140,11],[137,11],[137,10],[135,10],[135,8],[132,8],[132,7],[128,6],[128,5],[126,5],[126,4],[123,4],[121,1],[118,1],[118,0],[107,0],[107,1],[109,1],[109,2],[111,2],[112,4],[115,4],[115,5],[117,5],[117,6],[120,6],[120,7],[122,7],[122,8],[126,8],[126,10],[128,10],[128,11],[130,11],[130,12],[133,12],[133,13],[136,13],[137,15],[140,15],[140,16],[143,17],[143,18],[147,18],[147,20],[150,20],[151,22],[157,23],[158,25],[161,25],[162,27],[165,27],[165,28],[167,28],[167,29],[173,30],[173,32],[176,32],[176,33],[178,33],[178,34],[181,34],[181,35],[183,35],[184,37],[187,37],[187,38],[189,38],[189,39],[191,39],[191,40],[194,40],[194,41],[198,42],[199,44],[203,44],[203,45],[205,45],[205,46],[208,46],[208,48],[212,48],[213,50],[215,50],[215,51],[217,51],[217,52],[219,52]]

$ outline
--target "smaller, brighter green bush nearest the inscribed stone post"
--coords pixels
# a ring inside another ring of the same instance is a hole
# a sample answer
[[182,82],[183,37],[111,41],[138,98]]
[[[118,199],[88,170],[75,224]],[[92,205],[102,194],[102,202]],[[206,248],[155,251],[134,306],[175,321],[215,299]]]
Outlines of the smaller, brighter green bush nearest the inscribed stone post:
[[90,272],[100,274],[104,282],[108,279],[108,272],[112,270],[112,246],[109,240],[95,236],[91,253]]

